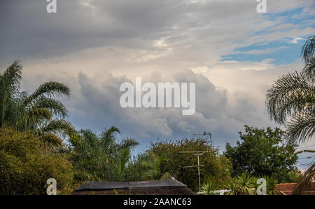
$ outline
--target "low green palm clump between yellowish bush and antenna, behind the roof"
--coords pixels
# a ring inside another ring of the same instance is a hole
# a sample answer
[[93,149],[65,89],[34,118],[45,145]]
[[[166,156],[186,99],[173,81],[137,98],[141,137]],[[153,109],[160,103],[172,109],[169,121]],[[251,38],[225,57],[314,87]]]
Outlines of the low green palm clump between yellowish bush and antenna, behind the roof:
[[69,160],[73,164],[76,182],[129,181],[138,177],[132,168],[131,149],[139,143],[132,138],[116,142],[120,130],[111,127],[96,135],[80,130],[69,138]]

